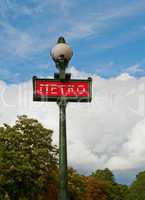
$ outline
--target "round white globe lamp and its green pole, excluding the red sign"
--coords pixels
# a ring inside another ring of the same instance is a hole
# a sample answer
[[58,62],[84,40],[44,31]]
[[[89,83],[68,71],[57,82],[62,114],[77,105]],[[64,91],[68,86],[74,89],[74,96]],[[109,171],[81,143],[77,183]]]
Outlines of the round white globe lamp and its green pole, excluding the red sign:
[[[55,74],[55,78],[60,81],[65,81],[67,75],[70,78],[70,74],[66,74],[65,70],[68,67],[68,63],[73,55],[72,49],[66,44],[65,39],[60,37],[57,44],[51,50],[51,57],[54,60],[56,67],[59,70],[59,74]],[[66,99],[59,98],[59,200],[68,200],[67,193],[67,138],[66,138]]]

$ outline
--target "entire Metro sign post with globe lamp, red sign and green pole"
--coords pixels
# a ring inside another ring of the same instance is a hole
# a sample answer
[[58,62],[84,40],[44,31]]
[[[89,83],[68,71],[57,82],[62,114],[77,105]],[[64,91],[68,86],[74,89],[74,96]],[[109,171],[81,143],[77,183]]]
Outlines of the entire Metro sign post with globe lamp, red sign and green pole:
[[59,106],[59,200],[68,200],[66,105],[68,102],[91,102],[92,79],[70,79],[71,74],[65,73],[72,50],[63,37],[58,39],[51,55],[59,73],[54,79],[33,77],[33,101],[56,102]]

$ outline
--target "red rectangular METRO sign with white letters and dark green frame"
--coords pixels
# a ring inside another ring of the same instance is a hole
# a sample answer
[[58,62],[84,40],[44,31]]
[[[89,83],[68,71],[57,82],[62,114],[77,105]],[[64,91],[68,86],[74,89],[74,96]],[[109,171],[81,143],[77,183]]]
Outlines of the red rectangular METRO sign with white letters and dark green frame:
[[59,101],[60,98],[65,98],[67,102],[90,102],[92,79],[60,81],[33,77],[34,101]]

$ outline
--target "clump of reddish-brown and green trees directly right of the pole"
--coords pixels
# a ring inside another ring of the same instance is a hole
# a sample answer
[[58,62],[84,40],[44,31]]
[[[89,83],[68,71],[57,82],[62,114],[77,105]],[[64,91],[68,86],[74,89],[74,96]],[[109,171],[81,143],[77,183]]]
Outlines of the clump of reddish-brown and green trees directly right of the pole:
[[70,200],[126,200],[128,187],[117,184],[110,170],[97,170],[95,174],[83,176],[69,169]]

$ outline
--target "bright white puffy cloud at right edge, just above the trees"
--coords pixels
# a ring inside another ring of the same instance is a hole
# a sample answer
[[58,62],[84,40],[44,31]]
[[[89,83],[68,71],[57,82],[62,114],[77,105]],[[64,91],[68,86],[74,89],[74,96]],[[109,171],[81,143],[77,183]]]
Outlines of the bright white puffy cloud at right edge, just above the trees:
[[118,155],[113,156],[106,165],[114,169],[118,169],[118,165],[120,169],[142,168],[145,164],[144,141],[145,119],[133,126],[128,141],[123,144]]

